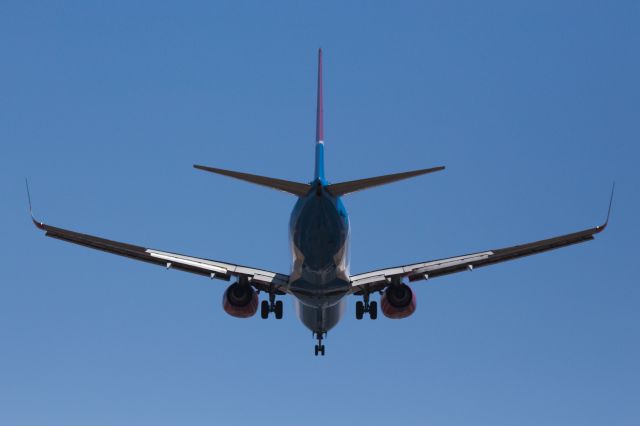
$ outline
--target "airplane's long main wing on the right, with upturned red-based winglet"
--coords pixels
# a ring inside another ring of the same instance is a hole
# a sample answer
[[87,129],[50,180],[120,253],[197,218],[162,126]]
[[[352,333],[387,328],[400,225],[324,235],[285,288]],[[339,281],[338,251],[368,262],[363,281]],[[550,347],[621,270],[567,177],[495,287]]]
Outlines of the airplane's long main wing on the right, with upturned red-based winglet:
[[469,271],[482,266],[489,266],[505,262],[507,260],[518,259],[593,240],[594,236],[604,231],[609,223],[612,201],[613,189],[611,191],[607,219],[600,226],[512,247],[487,250],[478,253],[466,254],[464,256],[449,257],[352,275],[350,277],[351,293],[379,291],[387,287],[389,284],[402,281],[403,279],[406,279],[409,282],[426,280],[456,272]]

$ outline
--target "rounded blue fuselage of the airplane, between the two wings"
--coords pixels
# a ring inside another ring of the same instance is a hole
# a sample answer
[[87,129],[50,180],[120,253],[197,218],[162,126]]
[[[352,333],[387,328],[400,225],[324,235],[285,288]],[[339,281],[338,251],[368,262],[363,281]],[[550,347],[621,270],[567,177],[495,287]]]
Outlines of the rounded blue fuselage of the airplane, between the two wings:
[[349,290],[349,217],[339,197],[317,179],[298,198],[289,222],[292,267],[289,289],[296,312],[314,332],[327,332],[344,312]]

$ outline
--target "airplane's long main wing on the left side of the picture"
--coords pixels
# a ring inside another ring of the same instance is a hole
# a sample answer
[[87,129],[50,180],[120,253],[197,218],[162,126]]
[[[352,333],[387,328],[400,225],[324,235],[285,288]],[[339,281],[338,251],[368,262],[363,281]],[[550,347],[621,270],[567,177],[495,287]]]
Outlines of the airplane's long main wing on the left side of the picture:
[[161,265],[167,269],[178,269],[180,271],[191,272],[229,281],[231,277],[246,279],[252,286],[259,290],[269,291],[273,289],[276,293],[287,292],[287,275],[278,274],[262,269],[250,268],[247,266],[234,265],[231,263],[219,262],[216,260],[203,259],[199,257],[185,256],[182,254],[170,253],[155,250],[147,247],[135,246],[132,244],[120,243],[118,241],[107,240],[93,235],[81,234],[67,229],[57,228],[38,222],[33,218],[33,223],[45,231],[47,237],[79,244],[96,250],[126,256],[131,259]]

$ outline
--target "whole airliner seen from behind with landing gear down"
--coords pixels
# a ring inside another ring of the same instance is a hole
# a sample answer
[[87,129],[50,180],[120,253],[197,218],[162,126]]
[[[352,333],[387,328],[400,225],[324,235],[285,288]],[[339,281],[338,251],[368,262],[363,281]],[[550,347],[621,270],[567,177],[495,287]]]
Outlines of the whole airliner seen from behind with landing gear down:
[[[355,304],[357,320],[361,320],[365,315],[372,320],[378,317],[378,303],[371,300],[371,295],[375,293],[380,294],[380,309],[384,316],[391,319],[406,318],[416,310],[416,296],[409,286],[411,283],[456,272],[471,271],[475,268],[589,241],[594,239],[595,234],[604,231],[609,223],[614,188],[611,190],[606,220],[602,225],[594,228],[527,244],[351,275],[349,272],[349,216],[342,203],[342,197],[379,185],[438,172],[444,170],[444,167],[330,183],[324,172],[322,93],[322,49],[319,49],[315,171],[311,182],[292,182],[194,165],[199,170],[273,188],[297,197],[289,222],[289,242],[293,260],[288,275],[112,241],[45,224],[36,220],[33,215],[27,182],[31,219],[35,226],[43,230],[48,237],[161,265],[167,269],[204,275],[211,279],[230,281],[233,278],[234,282],[227,287],[222,296],[224,311],[233,317],[252,317],[260,306],[260,315],[263,319],[268,318],[270,314],[273,314],[276,319],[281,319],[283,304],[282,300],[277,298],[284,295],[293,296],[297,316],[311,330],[314,340],[317,340],[314,347],[316,356],[325,355],[323,339],[343,316],[347,296],[353,295],[360,299]],[[260,292],[265,293],[267,298],[259,304]]]

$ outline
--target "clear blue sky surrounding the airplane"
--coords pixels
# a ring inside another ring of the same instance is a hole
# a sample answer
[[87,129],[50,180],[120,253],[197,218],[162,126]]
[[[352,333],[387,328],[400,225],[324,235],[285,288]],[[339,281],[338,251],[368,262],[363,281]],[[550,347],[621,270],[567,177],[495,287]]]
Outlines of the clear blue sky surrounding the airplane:
[[[321,4],[320,4],[321,3]],[[0,4],[0,424],[638,425],[637,1]],[[286,273],[294,199],[192,169],[330,180],[352,272],[600,223],[584,245],[417,283],[313,356],[226,283],[45,239],[26,213]]]

